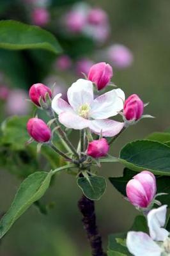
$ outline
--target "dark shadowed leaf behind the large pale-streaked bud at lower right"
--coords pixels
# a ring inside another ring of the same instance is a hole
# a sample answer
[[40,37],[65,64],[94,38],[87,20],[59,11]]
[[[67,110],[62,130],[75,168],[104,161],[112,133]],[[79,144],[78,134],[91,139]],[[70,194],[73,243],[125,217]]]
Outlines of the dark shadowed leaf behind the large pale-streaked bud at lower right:
[[[136,172],[125,168],[123,171],[123,177],[110,177],[111,184],[116,188],[123,196],[126,196],[127,182],[136,175]],[[158,196],[157,199],[162,204],[167,204],[170,207],[170,177],[169,176],[156,176],[157,180],[157,193],[167,193],[167,195]]]

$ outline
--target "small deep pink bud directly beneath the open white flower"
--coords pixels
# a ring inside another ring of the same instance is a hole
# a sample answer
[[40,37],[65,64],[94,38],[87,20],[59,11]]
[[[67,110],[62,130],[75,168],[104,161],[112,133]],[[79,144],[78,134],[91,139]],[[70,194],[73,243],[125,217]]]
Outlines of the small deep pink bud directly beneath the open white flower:
[[87,154],[94,158],[106,156],[109,151],[109,144],[104,138],[100,140],[93,140],[88,145]]

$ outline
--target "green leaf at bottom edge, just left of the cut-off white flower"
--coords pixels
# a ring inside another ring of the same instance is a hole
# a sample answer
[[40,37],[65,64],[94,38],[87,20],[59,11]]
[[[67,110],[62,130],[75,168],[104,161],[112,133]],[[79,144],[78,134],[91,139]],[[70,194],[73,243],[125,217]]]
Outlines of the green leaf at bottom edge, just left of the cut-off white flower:
[[[122,245],[120,241],[123,241],[125,243],[127,234],[121,233],[121,234],[111,234],[109,236],[109,244],[108,244],[108,251],[107,254],[109,256],[113,255],[122,255],[122,256],[130,256],[131,254],[128,252],[128,249],[126,246]],[[120,253],[120,254],[118,254]]]

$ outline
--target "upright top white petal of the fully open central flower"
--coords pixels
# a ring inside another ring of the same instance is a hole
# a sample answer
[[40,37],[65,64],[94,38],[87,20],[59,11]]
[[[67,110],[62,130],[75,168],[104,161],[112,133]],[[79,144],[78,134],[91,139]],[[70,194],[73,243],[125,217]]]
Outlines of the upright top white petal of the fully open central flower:
[[78,79],[68,88],[67,97],[75,111],[78,111],[83,104],[91,105],[93,102],[93,83],[85,79]]

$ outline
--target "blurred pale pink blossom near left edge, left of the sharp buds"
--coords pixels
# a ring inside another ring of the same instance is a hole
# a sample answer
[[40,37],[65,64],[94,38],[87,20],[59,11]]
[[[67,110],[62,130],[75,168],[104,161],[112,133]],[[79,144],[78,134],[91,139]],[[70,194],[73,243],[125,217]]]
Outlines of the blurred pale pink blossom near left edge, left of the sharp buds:
[[24,90],[11,90],[6,101],[6,113],[8,115],[27,115],[31,105],[26,99],[28,99],[28,95]]

